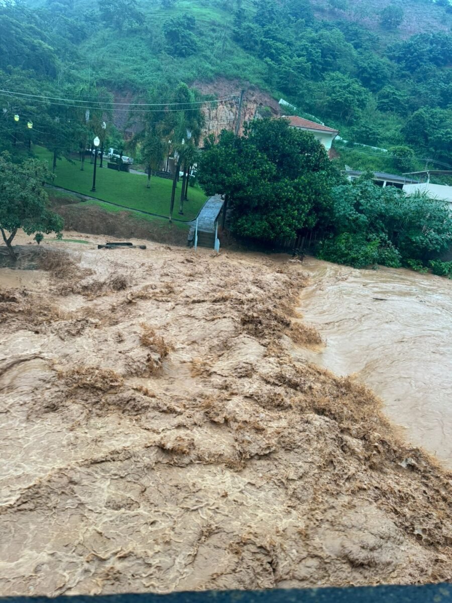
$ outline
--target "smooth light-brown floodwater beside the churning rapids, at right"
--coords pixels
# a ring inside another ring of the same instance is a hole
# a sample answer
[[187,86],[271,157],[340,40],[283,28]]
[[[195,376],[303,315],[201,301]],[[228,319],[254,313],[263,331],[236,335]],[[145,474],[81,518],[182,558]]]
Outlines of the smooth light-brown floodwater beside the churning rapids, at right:
[[409,270],[354,270],[308,258],[300,311],[326,345],[305,352],[354,374],[404,437],[452,467],[452,281]]

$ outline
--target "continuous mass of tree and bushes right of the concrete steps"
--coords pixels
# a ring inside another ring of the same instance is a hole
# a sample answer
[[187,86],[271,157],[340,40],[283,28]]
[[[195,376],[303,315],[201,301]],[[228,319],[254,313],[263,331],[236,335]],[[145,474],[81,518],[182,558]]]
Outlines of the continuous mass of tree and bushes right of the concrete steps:
[[372,176],[344,180],[313,135],[286,119],[254,120],[242,137],[207,141],[198,174],[207,193],[225,195],[237,236],[278,243],[315,230],[321,259],[415,270],[430,260],[435,274],[450,276],[438,259],[452,242],[447,203],[376,186]]

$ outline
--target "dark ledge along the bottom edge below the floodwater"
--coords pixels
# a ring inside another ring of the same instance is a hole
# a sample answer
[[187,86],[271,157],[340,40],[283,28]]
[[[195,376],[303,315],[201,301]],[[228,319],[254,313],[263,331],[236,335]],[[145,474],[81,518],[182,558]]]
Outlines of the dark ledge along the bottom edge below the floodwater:
[[452,584],[347,589],[219,590],[171,595],[5,597],[0,603],[452,603]]

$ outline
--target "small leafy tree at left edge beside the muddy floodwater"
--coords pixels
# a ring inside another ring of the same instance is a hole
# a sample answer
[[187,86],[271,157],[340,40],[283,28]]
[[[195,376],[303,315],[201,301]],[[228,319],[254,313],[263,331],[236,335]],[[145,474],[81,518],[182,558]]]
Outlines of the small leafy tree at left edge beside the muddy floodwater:
[[0,156],[0,232],[13,259],[12,242],[19,228],[27,235],[63,229],[63,220],[49,209],[43,187],[51,177],[47,166],[36,159],[17,165],[8,154]]

